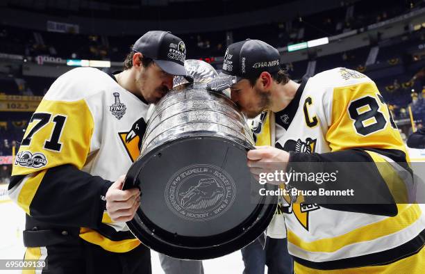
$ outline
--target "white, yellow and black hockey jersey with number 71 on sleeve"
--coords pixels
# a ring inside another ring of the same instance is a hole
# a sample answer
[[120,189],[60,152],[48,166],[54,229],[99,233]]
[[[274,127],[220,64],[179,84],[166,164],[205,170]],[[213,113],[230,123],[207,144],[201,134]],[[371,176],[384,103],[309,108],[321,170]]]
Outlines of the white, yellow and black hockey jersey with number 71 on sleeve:
[[112,252],[132,250],[140,241],[110,220],[104,195],[138,158],[148,107],[101,70],[63,74],[28,124],[10,197],[28,218],[81,227],[82,239]]

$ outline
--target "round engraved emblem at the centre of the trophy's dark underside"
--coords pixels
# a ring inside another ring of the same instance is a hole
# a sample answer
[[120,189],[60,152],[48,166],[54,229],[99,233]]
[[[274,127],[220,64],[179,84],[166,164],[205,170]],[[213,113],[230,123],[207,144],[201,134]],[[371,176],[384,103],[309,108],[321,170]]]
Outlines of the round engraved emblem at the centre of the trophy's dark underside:
[[186,220],[212,220],[235,200],[235,182],[213,165],[192,165],[178,170],[165,188],[168,208]]

